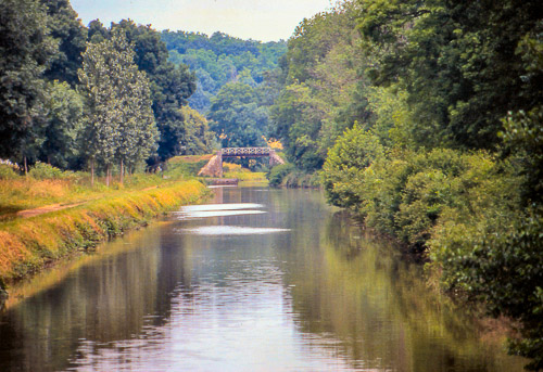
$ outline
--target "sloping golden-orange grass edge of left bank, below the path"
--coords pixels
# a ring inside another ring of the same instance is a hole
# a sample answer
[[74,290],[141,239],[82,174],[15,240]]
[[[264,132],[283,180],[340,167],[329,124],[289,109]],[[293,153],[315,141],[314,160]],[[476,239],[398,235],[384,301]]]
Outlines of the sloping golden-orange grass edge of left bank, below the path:
[[0,303],[7,283],[37,272],[62,257],[91,249],[207,194],[202,183],[184,181],[1,223]]

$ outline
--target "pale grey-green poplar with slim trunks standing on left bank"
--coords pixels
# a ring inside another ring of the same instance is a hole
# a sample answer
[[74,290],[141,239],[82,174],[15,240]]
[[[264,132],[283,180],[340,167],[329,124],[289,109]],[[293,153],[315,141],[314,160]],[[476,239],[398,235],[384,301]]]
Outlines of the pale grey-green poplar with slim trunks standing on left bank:
[[134,50],[122,33],[88,43],[79,79],[89,99],[85,131],[91,172],[94,162],[105,166],[106,184],[115,159],[134,165],[155,147],[157,131],[151,111],[149,80],[134,63]]

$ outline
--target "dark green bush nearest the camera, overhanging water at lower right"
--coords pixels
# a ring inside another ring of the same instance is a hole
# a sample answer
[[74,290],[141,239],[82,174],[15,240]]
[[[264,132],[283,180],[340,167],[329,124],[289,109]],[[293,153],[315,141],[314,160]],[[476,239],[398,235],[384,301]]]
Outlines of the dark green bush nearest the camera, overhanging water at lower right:
[[543,208],[491,210],[488,218],[447,214],[430,241],[432,267],[451,292],[485,304],[493,317],[518,321],[509,351],[543,369]]

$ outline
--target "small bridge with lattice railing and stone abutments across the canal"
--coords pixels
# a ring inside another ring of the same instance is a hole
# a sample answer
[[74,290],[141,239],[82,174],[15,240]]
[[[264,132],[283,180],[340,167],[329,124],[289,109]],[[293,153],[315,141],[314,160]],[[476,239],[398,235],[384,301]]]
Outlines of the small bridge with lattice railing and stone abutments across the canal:
[[219,150],[198,172],[198,176],[223,177],[223,158],[225,157],[265,157],[269,156],[269,166],[285,164],[285,161],[270,147],[226,147]]

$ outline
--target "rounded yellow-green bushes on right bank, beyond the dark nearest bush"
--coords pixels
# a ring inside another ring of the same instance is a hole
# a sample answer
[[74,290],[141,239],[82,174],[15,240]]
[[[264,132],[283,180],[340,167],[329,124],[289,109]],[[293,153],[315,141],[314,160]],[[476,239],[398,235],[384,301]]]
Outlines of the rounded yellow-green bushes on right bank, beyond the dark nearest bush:
[[444,211],[464,219],[480,218],[481,210],[507,214],[517,205],[520,184],[484,152],[396,149],[384,154],[374,134],[356,127],[330,151],[323,179],[332,204],[418,248],[444,223]]

